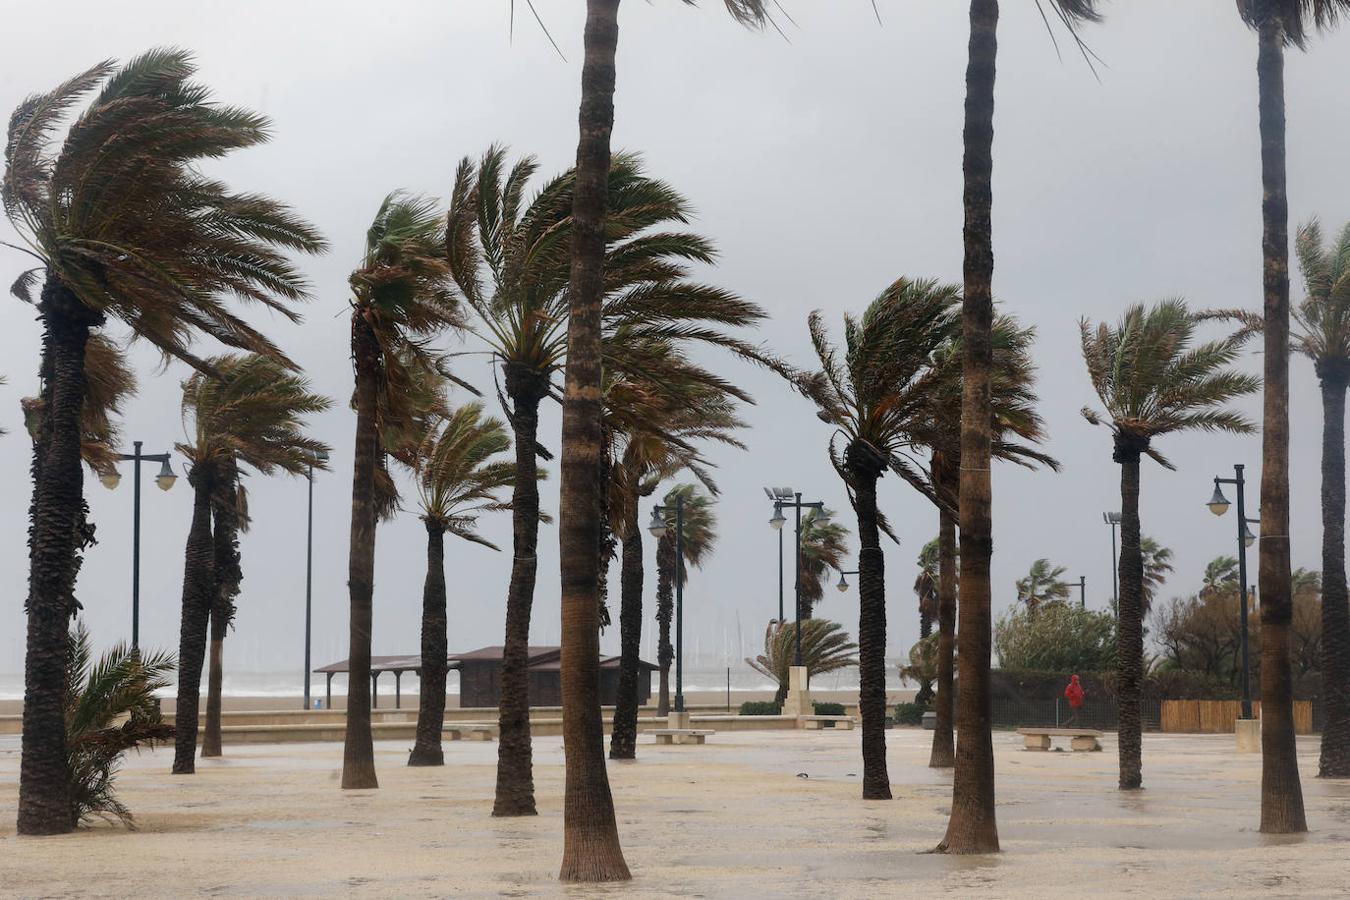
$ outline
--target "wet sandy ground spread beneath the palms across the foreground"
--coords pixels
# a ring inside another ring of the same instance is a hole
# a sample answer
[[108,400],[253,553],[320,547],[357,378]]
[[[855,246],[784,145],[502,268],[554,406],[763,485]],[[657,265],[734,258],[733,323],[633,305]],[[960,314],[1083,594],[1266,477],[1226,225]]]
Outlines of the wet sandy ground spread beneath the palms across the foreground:
[[122,793],[139,830],[16,838],[18,739],[0,738],[3,896],[1327,896],[1350,887],[1350,783],[1319,781],[1300,741],[1312,833],[1257,831],[1258,756],[1231,735],[1145,738],[1146,791],[1115,789],[1103,753],[1030,753],[995,735],[1003,853],[922,853],[950,773],[929,733],[887,735],[895,799],[859,799],[859,733],[737,733],[643,743],[612,764],[632,884],[563,888],[562,741],[535,742],[540,815],[489,815],[497,746],[448,743],[440,769],[377,745],[381,788],[338,788],[339,745],[228,748],[196,776],[171,750],[132,756]]

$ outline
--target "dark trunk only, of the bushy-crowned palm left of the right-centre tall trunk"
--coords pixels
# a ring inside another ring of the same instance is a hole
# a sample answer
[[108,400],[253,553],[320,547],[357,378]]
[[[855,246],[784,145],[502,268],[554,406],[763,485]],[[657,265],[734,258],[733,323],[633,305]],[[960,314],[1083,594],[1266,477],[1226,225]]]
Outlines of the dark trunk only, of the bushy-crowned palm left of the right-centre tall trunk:
[[[850,456],[856,456],[850,445]],[[875,467],[849,460],[857,509],[859,712],[863,716],[863,799],[890,800],[886,769],[886,557],[876,528]]]

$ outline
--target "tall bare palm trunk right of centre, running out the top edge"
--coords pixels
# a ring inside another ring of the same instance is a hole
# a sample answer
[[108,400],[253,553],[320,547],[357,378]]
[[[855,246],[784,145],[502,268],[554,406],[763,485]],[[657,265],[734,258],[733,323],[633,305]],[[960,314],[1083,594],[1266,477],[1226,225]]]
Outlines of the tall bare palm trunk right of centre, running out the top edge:
[[971,0],[971,43],[965,69],[965,297],[961,304],[961,607],[960,696],[952,818],[942,853],[995,853],[994,741],[990,734],[992,636],[990,557],[994,553],[990,445],[994,413],[990,370],[994,354],[994,73],[998,61],[998,0]]

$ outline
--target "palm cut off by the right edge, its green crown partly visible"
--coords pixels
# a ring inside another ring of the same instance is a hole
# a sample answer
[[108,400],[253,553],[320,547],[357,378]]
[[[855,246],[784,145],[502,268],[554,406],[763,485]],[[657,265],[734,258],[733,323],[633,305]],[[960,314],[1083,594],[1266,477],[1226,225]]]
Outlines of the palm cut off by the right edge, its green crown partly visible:
[[1350,223],[1326,247],[1316,219],[1295,240],[1307,298],[1295,347],[1322,386],[1322,684],[1318,775],[1350,777],[1350,594],[1346,590],[1346,386],[1350,385]]

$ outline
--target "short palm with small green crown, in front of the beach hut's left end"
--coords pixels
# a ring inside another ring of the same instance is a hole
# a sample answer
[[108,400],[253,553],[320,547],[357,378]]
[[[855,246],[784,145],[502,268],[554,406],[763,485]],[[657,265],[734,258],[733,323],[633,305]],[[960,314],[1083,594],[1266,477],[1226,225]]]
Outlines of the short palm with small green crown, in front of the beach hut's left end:
[[446,534],[498,549],[478,533],[478,517],[509,506],[497,497],[516,480],[516,464],[500,459],[509,449],[506,425],[498,418],[485,418],[482,403],[467,403],[433,422],[413,453],[421,519],[427,526],[427,582],[423,586],[417,741],[408,765],[446,762],[440,746],[450,668]]

